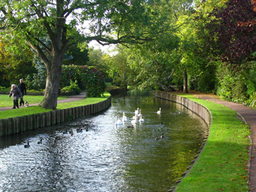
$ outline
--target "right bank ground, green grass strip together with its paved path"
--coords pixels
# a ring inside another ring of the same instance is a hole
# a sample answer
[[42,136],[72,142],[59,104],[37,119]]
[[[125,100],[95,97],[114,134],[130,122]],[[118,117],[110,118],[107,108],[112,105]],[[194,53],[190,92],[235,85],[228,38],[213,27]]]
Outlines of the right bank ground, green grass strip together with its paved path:
[[214,95],[191,94],[180,96],[209,108],[212,127],[197,163],[175,191],[256,191],[256,110]]

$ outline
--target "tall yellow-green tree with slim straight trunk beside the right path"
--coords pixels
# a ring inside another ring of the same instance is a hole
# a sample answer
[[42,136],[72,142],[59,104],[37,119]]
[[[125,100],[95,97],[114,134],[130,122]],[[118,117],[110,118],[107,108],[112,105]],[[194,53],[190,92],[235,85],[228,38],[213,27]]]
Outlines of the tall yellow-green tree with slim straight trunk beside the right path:
[[183,70],[184,93],[188,93],[189,77],[195,77],[196,74],[202,76],[209,69],[207,66],[211,59],[209,58],[211,50],[208,44],[211,36],[205,25],[212,19],[209,17],[209,12],[221,4],[223,4],[221,0],[188,1],[185,3],[185,8],[177,12],[176,23],[180,26],[177,33],[180,37],[179,66]]

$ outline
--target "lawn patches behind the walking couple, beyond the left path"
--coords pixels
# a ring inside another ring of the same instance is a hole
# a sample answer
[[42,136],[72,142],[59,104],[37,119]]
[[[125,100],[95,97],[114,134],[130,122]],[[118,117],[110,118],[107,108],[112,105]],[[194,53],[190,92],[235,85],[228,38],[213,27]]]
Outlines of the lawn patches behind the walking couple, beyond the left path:
[[[25,95],[24,101],[28,101],[29,104],[40,103],[44,99],[44,96]],[[67,99],[67,97],[58,97],[58,100]],[[0,95],[0,108],[13,106],[13,99],[9,95]]]

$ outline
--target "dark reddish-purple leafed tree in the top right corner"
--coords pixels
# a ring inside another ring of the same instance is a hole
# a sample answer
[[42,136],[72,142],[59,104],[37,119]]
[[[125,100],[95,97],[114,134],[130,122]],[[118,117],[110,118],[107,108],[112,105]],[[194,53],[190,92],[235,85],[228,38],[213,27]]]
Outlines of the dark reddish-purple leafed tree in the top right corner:
[[230,0],[212,12],[212,36],[223,61],[237,67],[244,61],[256,60],[255,1]]

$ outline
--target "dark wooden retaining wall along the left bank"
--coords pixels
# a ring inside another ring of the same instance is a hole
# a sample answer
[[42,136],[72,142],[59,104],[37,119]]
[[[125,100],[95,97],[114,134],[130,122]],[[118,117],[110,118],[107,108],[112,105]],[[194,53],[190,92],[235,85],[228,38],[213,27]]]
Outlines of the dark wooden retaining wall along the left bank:
[[110,105],[111,97],[108,97],[108,99],[102,102],[86,106],[54,110],[34,115],[4,118],[0,120],[0,137],[61,124],[82,116],[94,115],[100,113],[100,111],[104,111]]

